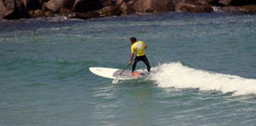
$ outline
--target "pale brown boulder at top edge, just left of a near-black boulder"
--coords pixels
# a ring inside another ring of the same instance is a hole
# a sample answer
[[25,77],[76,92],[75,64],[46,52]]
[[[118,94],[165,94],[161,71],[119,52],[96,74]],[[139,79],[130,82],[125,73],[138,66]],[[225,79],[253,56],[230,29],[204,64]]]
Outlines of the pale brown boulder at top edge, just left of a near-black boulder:
[[46,3],[45,8],[54,13],[59,13],[61,11],[61,8],[71,8],[73,5],[74,0],[50,0]]

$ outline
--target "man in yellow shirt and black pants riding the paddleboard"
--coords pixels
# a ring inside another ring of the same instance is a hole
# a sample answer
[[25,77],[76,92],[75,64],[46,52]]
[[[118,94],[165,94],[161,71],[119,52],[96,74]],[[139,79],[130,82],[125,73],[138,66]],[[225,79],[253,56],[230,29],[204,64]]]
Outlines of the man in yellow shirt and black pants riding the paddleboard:
[[130,54],[130,59],[128,62],[128,65],[130,65],[132,63],[132,59],[134,56],[134,53],[136,52],[136,57],[134,59],[134,63],[132,65],[132,75],[136,76],[136,74],[134,73],[134,69],[136,68],[136,65],[139,61],[143,61],[144,64],[147,66],[147,70],[150,72],[150,65],[149,65],[149,61],[145,55],[145,49],[147,48],[147,45],[144,44],[142,41],[137,41],[137,39],[135,37],[131,37],[129,39],[130,44],[131,44],[131,54]]

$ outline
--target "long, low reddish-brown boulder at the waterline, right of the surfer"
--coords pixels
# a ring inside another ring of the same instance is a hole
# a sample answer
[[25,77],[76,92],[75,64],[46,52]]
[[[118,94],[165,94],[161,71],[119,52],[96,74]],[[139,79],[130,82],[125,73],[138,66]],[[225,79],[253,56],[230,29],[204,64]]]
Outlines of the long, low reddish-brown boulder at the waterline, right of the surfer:
[[213,8],[208,5],[199,5],[196,3],[180,2],[175,6],[175,10],[179,12],[199,13],[199,12],[212,12]]

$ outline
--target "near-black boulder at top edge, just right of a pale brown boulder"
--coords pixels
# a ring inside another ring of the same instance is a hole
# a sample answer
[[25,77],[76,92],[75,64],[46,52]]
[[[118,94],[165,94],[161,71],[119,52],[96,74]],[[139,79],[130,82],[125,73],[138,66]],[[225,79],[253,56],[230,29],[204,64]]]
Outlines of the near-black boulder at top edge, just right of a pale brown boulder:
[[73,10],[75,12],[88,12],[101,9],[100,0],[75,0]]

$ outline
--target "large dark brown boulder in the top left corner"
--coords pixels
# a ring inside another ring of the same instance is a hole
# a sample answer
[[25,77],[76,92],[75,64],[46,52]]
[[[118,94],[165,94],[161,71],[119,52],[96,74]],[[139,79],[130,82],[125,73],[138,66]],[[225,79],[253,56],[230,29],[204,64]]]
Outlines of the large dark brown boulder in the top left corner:
[[21,0],[5,0],[2,1],[5,7],[5,12],[3,12],[4,19],[28,19],[30,15],[23,5]]

